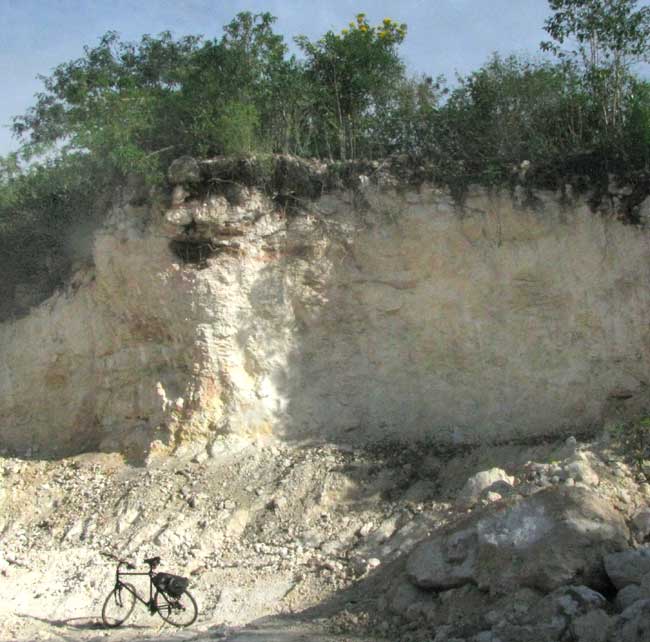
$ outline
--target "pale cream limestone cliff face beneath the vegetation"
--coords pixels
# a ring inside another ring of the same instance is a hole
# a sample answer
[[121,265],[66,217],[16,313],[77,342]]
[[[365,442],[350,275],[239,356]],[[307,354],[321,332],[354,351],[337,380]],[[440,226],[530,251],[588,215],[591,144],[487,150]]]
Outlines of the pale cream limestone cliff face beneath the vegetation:
[[[537,199],[476,188],[460,207],[425,184],[293,215],[255,188],[118,206],[95,266],[0,324],[0,449],[458,443],[647,408],[650,234]],[[200,265],[170,249],[190,229]]]

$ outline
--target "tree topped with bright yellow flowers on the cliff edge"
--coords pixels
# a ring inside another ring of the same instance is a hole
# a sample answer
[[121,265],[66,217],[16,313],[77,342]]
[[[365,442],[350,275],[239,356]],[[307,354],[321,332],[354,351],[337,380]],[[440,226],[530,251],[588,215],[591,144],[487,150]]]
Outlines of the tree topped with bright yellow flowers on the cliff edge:
[[356,158],[373,110],[404,76],[397,48],[406,25],[385,18],[372,27],[360,13],[341,33],[328,31],[317,42],[296,38],[307,57],[313,110],[320,126],[321,153]]

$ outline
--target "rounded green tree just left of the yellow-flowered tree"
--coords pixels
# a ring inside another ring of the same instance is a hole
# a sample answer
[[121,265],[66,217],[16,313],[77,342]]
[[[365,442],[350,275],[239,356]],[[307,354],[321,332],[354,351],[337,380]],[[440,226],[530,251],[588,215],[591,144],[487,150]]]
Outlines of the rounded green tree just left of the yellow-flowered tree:
[[[193,54],[179,96],[193,153],[295,151],[303,72],[295,57],[287,57],[275,21],[270,13],[239,13],[222,38],[204,42]],[[224,146],[224,123],[231,134],[246,130],[247,142],[233,148],[228,134]]]

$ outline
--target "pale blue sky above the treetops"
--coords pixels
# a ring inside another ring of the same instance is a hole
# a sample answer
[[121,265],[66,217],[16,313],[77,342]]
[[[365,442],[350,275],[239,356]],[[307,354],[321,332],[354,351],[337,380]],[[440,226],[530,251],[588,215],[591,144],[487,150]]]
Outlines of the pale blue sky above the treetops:
[[169,30],[214,38],[238,12],[269,11],[289,42],[340,30],[363,11],[375,24],[408,25],[401,53],[409,70],[431,76],[468,73],[490,54],[539,52],[546,0],[0,0],[0,154],[16,149],[9,125],[41,88],[39,74],[83,55],[106,31],[124,40]]

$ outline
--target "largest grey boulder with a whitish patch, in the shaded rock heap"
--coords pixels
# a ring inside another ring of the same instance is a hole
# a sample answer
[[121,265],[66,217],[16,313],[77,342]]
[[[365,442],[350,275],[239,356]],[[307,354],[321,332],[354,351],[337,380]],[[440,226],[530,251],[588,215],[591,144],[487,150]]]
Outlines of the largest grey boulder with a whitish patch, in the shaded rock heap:
[[477,584],[494,594],[567,584],[605,589],[603,556],[623,551],[629,531],[588,488],[558,486],[490,505],[421,542],[406,569],[420,588]]

